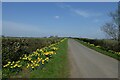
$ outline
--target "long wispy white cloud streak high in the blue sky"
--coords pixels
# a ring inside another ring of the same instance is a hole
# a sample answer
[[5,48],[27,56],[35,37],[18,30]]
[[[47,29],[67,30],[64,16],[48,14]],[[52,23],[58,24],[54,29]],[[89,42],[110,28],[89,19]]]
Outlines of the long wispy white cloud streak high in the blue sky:
[[89,10],[75,9],[71,5],[68,5],[68,4],[65,4],[65,3],[60,3],[60,4],[57,4],[57,5],[60,8],[68,9],[70,12],[72,12],[72,13],[74,13],[76,15],[82,16],[84,18],[87,18],[87,17],[98,17],[98,16],[102,15],[101,13],[94,13],[93,11],[89,11]]

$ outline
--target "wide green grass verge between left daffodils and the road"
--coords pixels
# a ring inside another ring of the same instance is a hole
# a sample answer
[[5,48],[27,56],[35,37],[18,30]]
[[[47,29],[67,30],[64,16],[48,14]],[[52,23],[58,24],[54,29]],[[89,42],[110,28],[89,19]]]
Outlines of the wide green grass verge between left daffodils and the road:
[[69,76],[69,66],[67,58],[67,39],[58,45],[57,54],[50,59],[48,64],[41,69],[30,73],[30,78],[67,78]]

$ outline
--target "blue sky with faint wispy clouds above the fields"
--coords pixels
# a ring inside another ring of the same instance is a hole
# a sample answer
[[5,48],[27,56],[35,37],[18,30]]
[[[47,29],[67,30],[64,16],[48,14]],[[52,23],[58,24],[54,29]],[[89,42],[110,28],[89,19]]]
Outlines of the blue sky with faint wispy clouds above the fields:
[[115,2],[2,3],[2,33],[6,36],[72,36],[104,38],[100,27],[111,20]]

